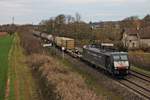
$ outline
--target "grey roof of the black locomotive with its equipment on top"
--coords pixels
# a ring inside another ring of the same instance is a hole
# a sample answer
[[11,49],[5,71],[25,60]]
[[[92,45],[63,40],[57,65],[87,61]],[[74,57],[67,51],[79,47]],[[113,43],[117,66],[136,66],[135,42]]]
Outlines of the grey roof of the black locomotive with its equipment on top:
[[86,49],[89,50],[89,51],[96,52],[96,53],[105,54],[107,56],[117,55],[117,54],[128,54],[127,52],[107,51],[107,50],[104,50],[104,49],[93,48],[93,47],[86,47]]

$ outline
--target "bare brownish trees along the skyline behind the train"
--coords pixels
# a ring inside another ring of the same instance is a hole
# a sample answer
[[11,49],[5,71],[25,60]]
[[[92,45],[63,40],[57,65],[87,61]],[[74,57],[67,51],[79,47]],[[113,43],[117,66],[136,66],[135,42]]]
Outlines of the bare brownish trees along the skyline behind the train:
[[[42,20],[39,30],[55,36],[66,36],[76,39],[79,44],[96,42],[120,42],[124,28],[143,28],[150,26],[150,15],[143,19],[138,16],[127,17],[121,21],[100,22],[102,28],[91,27],[91,23],[81,20],[81,15],[75,16],[60,14],[47,20]],[[116,27],[117,25],[118,27]],[[115,26],[115,27],[114,27]]]

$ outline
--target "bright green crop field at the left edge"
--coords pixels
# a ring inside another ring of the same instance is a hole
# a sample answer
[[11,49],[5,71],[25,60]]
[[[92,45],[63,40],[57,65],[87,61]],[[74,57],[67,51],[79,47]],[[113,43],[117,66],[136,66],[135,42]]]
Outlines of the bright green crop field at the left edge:
[[0,100],[4,99],[8,72],[8,54],[13,36],[0,37]]

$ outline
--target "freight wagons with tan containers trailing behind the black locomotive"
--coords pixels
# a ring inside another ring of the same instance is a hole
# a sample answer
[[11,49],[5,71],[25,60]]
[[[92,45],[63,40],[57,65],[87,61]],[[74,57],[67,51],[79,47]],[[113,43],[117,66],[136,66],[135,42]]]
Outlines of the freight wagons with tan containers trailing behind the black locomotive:
[[[33,32],[33,35],[41,38],[45,43],[52,43],[59,49],[70,54],[72,57],[77,58],[82,56],[81,53],[79,52],[79,49],[75,47],[75,40],[72,38],[58,37],[58,36],[54,37],[50,34],[48,35],[46,33],[38,32],[38,31]],[[48,44],[45,45],[49,46]]]

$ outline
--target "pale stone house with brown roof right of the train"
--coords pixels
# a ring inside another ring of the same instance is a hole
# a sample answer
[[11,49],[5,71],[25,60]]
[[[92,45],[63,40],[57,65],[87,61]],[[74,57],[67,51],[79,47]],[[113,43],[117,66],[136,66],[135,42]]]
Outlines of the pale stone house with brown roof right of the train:
[[143,46],[150,47],[150,27],[142,29],[124,29],[122,42],[128,49],[139,49]]

